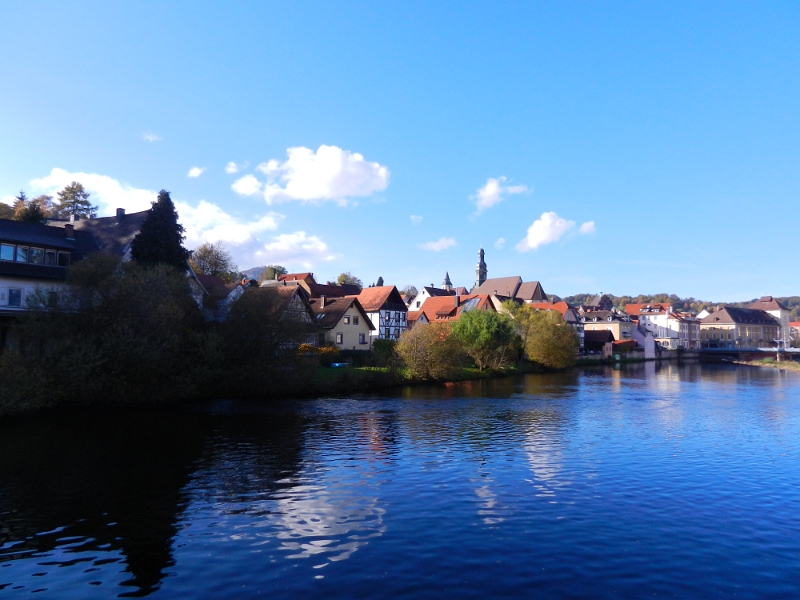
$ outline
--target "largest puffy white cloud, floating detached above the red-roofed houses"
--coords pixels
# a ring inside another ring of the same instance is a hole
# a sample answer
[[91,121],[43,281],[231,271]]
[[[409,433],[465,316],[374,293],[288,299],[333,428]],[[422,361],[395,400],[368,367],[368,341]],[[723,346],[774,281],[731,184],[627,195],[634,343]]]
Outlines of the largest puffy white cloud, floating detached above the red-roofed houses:
[[324,202],[333,200],[347,204],[347,199],[381,192],[389,184],[389,169],[376,162],[364,160],[361,154],[322,145],[314,152],[310,148],[289,148],[287,160],[272,159],[258,165],[267,177],[258,181],[246,175],[234,182],[237,194],[263,194],[267,204],[276,202]]

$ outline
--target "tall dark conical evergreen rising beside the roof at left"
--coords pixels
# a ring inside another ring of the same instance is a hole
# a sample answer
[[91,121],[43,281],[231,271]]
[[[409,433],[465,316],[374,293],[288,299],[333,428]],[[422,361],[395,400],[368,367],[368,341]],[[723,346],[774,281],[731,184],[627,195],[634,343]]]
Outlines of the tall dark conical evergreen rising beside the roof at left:
[[183,247],[183,240],[183,225],[178,223],[175,205],[169,192],[161,190],[142,229],[133,238],[131,257],[145,267],[165,264],[184,269],[189,253]]

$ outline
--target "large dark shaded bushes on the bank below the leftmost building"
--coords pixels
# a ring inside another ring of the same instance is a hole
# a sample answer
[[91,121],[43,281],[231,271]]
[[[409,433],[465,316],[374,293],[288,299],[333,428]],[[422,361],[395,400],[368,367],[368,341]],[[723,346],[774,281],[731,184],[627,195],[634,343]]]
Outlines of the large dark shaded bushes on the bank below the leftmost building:
[[41,290],[29,304],[37,310],[23,316],[16,348],[0,362],[6,410],[190,398],[218,362],[216,336],[187,277],[168,266],[90,255],[70,269],[57,296]]

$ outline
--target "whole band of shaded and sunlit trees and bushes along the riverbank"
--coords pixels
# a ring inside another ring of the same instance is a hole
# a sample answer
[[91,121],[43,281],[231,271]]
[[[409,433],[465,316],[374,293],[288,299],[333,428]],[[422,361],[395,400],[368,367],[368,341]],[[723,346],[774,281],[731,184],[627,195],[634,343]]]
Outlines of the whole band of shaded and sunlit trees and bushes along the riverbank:
[[509,304],[501,313],[417,325],[396,343],[375,340],[371,351],[347,358],[353,368],[331,369],[338,349],[305,344],[312,326],[266,288],[247,289],[223,321],[207,321],[192,298],[177,219],[162,190],[133,241],[132,261],[91,254],[70,267],[57,294],[28,298],[16,343],[0,354],[0,414],[352,393],[574,361],[577,337],[558,313]]

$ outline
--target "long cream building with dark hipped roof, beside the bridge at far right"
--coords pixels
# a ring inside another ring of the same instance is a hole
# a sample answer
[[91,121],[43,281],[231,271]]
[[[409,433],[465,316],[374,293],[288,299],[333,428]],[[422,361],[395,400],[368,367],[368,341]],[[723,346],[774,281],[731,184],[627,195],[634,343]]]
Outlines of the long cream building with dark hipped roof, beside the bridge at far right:
[[775,348],[780,321],[763,310],[725,306],[700,320],[702,348]]

